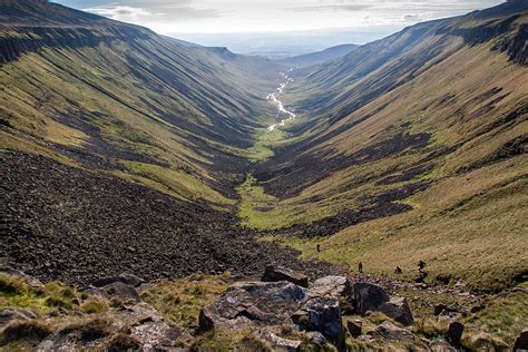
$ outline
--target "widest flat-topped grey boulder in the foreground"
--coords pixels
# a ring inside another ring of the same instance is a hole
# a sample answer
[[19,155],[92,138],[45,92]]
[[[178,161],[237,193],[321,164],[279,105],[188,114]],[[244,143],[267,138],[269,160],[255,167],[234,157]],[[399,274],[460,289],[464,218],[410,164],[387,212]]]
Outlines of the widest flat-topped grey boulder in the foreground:
[[307,300],[307,290],[293,283],[236,283],[199,313],[199,330],[239,329],[251,324],[278,325]]

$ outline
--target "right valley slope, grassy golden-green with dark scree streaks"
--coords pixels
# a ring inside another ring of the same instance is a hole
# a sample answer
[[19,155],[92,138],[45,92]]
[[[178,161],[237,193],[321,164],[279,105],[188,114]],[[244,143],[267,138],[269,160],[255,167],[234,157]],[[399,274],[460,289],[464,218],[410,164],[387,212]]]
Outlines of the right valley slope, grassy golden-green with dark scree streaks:
[[423,258],[482,290],[521,277],[527,9],[420,23],[296,77],[297,123],[244,189],[246,224],[336,234],[294,243],[378,273]]

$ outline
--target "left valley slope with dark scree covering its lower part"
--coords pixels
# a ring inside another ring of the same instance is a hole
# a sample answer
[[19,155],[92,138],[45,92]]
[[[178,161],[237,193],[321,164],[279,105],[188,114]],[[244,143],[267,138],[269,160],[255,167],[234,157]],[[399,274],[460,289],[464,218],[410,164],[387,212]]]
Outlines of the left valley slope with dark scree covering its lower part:
[[297,263],[228,212],[275,63],[47,1],[0,9],[2,264],[88,284]]

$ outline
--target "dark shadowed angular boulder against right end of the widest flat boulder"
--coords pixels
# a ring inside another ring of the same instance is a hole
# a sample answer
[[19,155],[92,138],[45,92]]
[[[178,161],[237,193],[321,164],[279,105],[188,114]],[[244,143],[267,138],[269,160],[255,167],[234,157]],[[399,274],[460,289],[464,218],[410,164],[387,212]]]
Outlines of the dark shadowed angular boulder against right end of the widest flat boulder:
[[329,341],[340,343],[342,336],[341,309],[336,297],[314,297],[292,315],[300,330],[319,331]]

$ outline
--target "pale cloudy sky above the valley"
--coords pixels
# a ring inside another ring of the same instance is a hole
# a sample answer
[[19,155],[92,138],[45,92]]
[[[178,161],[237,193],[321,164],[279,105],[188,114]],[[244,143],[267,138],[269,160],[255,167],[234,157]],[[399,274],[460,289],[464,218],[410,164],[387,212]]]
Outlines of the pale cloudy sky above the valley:
[[52,0],[162,35],[348,29],[369,39],[502,0]]

